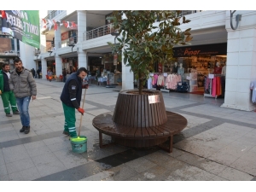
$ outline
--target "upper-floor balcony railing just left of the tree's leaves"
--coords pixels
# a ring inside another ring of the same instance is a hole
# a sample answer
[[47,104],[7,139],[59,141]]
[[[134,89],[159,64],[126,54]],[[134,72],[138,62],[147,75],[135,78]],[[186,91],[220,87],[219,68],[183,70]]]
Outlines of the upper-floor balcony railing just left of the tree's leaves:
[[85,40],[89,40],[89,39],[92,39],[92,38],[99,38],[99,37],[102,37],[104,35],[108,35],[111,32],[114,32],[113,25],[108,24],[106,26],[101,26],[101,27],[98,27],[96,29],[90,30],[88,32],[84,32],[83,40],[85,41]]

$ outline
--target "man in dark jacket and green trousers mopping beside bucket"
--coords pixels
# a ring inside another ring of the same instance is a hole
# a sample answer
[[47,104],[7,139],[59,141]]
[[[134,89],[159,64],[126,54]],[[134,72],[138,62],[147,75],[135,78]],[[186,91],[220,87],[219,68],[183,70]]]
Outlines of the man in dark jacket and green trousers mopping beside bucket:
[[88,89],[88,84],[83,85],[87,70],[80,67],[79,71],[72,73],[64,84],[61,93],[61,102],[64,110],[65,125],[63,134],[77,137],[75,109],[84,115],[84,108],[80,108],[82,89]]

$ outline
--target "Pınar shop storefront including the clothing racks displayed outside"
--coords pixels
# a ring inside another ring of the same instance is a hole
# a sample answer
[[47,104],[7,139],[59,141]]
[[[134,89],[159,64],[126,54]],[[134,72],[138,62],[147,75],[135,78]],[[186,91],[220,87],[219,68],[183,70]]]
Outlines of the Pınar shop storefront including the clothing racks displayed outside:
[[154,66],[163,82],[158,90],[176,90],[203,96],[224,97],[227,44],[207,44],[173,48],[173,61]]

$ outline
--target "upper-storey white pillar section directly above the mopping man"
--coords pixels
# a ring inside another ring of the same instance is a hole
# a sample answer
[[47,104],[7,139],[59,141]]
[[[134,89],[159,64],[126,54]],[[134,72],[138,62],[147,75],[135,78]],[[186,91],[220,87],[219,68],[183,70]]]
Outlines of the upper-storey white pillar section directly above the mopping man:
[[84,32],[86,32],[86,11],[78,10],[78,39],[77,42],[80,44],[85,39],[83,38]]

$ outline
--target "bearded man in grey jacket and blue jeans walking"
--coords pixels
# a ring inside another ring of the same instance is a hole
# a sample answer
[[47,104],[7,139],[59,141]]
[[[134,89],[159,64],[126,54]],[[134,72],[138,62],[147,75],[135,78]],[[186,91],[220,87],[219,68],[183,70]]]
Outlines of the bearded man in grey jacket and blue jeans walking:
[[15,70],[10,73],[9,88],[15,93],[17,105],[20,111],[22,128],[20,132],[25,134],[30,131],[30,116],[28,112],[29,102],[36,99],[37,84],[32,77],[32,73],[23,67],[20,58],[15,59]]

